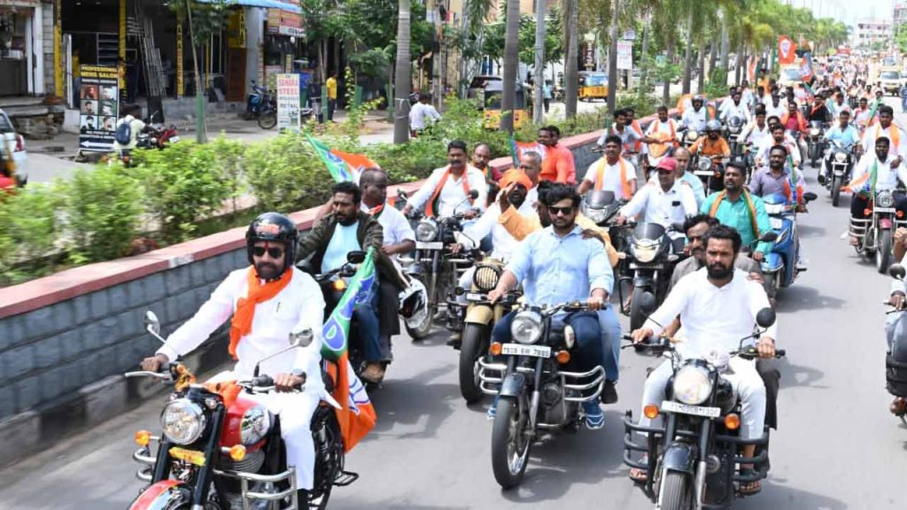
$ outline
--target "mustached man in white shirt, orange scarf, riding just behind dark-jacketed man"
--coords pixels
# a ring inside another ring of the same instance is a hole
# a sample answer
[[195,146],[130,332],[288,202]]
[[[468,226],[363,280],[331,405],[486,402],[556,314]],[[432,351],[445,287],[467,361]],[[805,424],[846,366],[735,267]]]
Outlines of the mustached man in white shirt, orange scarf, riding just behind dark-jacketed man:
[[[454,140],[447,144],[447,166],[435,169],[406,203],[403,213],[409,216],[414,210],[425,207],[425,216],[453,216],[463,212],[473,217],[485,209],[488,185],[481,170],[466,163],[466,143]],[[469,192],[478,191],[475,200]]]

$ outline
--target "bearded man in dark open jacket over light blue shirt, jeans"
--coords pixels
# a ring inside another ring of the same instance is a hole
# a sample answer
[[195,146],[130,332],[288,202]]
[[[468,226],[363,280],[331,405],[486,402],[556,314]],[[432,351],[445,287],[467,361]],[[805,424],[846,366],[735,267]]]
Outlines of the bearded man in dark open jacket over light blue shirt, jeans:
[[[318,221],[312,230],[299,240],[297,261],[311,256],[313,270],[326,273],[344,265],[346,254],[350,251],[375,248],[377,280],[393,283],[397,291],[404,289],[405,281],[401,280],[394,263],[385,255],[384,229],[381,223],[361,209],[362,192],[359,187],[348,181],[337,182],[332,191],[334,211]],[[379,293],[374,291],[375,286],[372,286],[372,289],[370,296],[356,301],[353,319],[359,325],[358,338],[362,342],[366,358],[366,368],[359,377],[378,384],[384,379],[385,368],[391,362],[390,337],[379,334]],[[334,304],[336,303],[332,306]],[[385,306],[393,307],[395,303],[385,303]],[[394,320],[397,320],[395,314],[392,315],[390,312],[382,313],[381,316],[394,317]]]

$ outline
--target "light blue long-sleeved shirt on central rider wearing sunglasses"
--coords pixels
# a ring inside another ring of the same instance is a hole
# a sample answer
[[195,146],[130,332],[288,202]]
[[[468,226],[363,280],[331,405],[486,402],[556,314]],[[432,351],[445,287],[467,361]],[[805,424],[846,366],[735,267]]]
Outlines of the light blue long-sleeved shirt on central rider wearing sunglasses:
[[604,245],[583,239],[576,226],[560,237],[552,227],[532,232],[513,252],[507,267],[532,305],[558,305],[589,299],[592,289],[609,294],[614,274]]

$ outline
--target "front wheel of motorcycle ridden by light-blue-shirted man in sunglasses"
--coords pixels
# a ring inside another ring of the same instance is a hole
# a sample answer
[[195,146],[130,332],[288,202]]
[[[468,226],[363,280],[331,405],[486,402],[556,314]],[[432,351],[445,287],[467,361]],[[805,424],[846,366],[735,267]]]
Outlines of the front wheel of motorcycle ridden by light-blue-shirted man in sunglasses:
[[529,464],[532,440],[524,430],[529,427],[529,417],[523,416],[528,411],[524,396],[498,399],[492,427],[492,469],[494,479],[505,489],[520,485]]

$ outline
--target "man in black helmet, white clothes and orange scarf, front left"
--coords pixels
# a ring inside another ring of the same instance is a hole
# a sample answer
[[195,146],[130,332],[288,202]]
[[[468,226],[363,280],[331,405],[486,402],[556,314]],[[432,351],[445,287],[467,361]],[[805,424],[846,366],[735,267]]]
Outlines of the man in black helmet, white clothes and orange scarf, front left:
[[[307,501],[315,472],[315,446],[309,429],[312,414],[325,392],[321,382],[321,324],[325,300],[318,284],[293,267],[296,224],[276,212],[266,212],[249,225],[246,251],[250,266],[227,276],[195,316],[174,331],[141,368],[161,367],[200,346],[233,317],[229,353],[236,366],[212,381],[252,378],[256,364],[287,348],[294,333],[310,331],[312,340],[261,362],[260,373],[274,378],[278,393],[249,394],[280,416],[280,434],[287,445],[287,464],[296,466],[299,501]],[[305,383],[305,390],[290,393]]]

